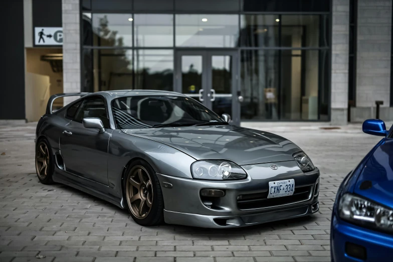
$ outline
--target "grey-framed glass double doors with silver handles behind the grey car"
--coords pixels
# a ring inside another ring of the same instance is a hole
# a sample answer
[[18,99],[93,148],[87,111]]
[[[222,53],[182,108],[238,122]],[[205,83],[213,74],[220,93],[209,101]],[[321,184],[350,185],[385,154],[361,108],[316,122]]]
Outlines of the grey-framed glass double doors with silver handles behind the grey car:
[[219,115],[240,124],[236,51],[178,51],[175,91],[186,94]]

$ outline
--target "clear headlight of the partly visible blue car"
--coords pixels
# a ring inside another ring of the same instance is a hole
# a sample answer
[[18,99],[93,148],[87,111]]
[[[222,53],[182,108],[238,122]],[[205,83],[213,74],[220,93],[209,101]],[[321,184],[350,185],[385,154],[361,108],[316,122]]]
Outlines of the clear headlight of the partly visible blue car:
[[393,233],[393,210],[351,194],[344,194],[338,215],[352,223]]

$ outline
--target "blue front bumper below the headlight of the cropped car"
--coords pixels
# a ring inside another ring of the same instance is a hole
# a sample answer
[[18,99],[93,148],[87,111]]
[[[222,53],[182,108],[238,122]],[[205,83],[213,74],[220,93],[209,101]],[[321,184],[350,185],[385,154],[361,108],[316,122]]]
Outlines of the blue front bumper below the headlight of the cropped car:
[[[360,245],[366,250],[366,259],[347,254],[347,243]],[[369,230],[337,219],[333,215],[331,226],[331,255],[335,262],[392,261],[393,235]]]

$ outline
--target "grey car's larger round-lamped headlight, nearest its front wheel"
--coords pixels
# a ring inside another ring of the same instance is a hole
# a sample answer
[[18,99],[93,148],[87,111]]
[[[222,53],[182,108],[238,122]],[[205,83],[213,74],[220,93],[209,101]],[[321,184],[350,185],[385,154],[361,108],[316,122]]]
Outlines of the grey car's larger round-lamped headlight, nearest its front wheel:
[[226,160],[196,161],[191,165],[191,172],[195,179],[228,180],[247,177],[246,171]]

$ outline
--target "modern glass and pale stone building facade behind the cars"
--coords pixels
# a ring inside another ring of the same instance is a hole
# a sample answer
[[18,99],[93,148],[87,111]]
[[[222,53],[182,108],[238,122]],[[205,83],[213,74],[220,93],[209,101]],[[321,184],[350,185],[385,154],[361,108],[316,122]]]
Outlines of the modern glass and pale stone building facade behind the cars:
[[[380,118],[393,120],[391,0],[52,0],[61,7],[45,21],[34,10],[47,2],[23,1],[26,108],[37,78],[27,65],[39,57],[52,69],[39,72],[46,96],[168,90],[235,123],[333,125],[375,117],[380,101]],[[62,43],[44,49],[41,37]]]

